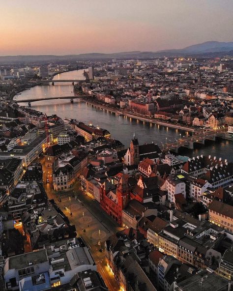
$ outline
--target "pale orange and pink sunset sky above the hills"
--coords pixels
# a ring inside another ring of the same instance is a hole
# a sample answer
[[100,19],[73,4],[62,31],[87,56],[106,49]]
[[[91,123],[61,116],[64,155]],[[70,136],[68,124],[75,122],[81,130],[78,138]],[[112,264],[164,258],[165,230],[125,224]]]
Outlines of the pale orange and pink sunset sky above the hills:
[[0,0],[0,55],[157,51],[233,41],[233,0]]

